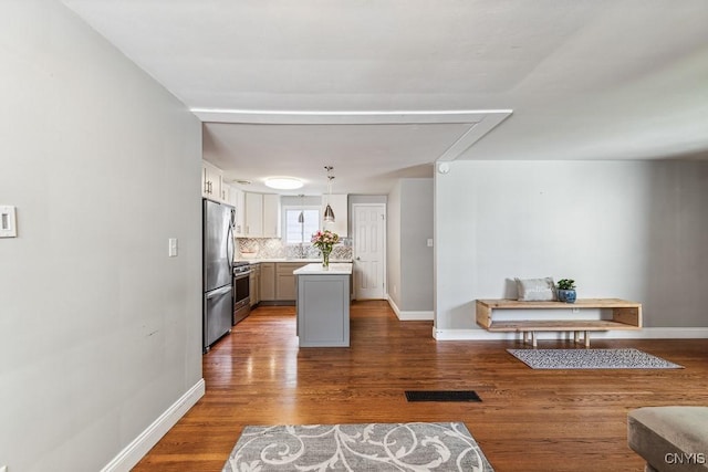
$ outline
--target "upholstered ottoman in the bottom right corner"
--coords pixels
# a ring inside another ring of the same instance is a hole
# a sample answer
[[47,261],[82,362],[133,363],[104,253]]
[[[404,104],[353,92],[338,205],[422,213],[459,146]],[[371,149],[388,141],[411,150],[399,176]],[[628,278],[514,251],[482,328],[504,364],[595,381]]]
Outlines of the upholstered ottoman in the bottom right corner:
[[645,470],[708,471],[708,407],[647,407],[629,411],[627,443]]

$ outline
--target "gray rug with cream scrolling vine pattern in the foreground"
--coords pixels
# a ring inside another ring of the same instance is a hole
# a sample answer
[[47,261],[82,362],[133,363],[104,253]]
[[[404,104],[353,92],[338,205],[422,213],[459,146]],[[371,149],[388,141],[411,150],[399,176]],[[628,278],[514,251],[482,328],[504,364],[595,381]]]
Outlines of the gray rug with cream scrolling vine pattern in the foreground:
[[247,426],[223,471],[493,469],[464,423],[410,422]]

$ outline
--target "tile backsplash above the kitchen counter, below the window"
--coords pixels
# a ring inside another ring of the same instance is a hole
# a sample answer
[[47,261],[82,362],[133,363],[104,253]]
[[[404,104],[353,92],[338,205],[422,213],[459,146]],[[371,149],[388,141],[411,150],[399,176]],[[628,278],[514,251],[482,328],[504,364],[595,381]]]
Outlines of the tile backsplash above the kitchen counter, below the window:
[[[283,244],[279,238],[237,238],[239,255],[249,253],[253,259],[317,259],[320,250],[310,243]],[[332,249],[330,259],[352,259],[352,239],[342,238]]]

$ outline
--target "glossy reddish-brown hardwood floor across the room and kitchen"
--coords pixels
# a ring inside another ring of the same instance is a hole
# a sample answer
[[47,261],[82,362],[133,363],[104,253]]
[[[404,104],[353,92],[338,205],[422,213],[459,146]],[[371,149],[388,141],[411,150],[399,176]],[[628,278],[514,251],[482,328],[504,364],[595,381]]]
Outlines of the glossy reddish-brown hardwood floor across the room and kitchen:
[[[220,471],[247,424],[464,421],[497,472],[641,471],[628,410],[708,405],[708,339],[593,340],[685,369],[533,370],[506,352],[520,342],[436,342],[431,322],[399,322],[386,302],[351,317],[351,348],[300,349],[293,307],[253,311],[204,356],[206,396],[134,470]],[[407,402],[413,389],[482,402]]]

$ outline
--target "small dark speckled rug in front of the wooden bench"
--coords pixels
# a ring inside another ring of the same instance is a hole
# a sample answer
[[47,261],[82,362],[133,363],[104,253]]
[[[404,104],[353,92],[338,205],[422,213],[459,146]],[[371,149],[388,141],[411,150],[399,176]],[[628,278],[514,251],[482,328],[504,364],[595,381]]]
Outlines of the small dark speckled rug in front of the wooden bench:
[[638,349],[507,349],[532,369],[683,369]]

